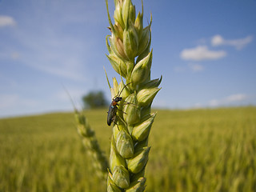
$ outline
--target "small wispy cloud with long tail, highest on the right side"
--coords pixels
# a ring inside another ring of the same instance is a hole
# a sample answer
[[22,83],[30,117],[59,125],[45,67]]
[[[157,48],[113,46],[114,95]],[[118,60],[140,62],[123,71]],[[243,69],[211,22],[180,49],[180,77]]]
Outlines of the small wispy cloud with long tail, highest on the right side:
[[217,34],[211,38],[212,46],[234,46],[237,50],[241,50],[248,43],[252,42],[253,37],[247,36],[246,38],[238,38],[232,40],[226,40],[221,35]]

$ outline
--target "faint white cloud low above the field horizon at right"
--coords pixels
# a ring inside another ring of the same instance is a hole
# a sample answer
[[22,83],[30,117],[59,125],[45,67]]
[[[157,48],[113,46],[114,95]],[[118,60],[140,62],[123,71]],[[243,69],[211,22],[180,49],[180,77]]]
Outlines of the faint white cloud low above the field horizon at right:
[[245,101],[248,98],[246,94],[231,94],[226,98],[212,99],[209,102],[209,106],[225,106],[238,102]]

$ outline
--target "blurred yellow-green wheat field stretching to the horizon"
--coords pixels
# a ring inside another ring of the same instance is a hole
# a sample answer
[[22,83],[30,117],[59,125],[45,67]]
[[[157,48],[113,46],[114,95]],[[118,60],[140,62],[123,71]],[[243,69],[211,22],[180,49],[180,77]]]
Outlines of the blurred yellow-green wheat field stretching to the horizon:
[[[109,155],[106,110],[86,112]],[[256,191],[256,107],[158,110],[146,191]],[[0,119],[0,191],[106,191],[71,113]]]

